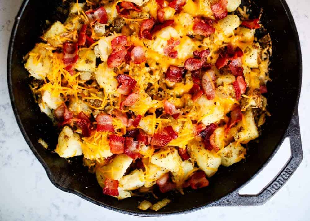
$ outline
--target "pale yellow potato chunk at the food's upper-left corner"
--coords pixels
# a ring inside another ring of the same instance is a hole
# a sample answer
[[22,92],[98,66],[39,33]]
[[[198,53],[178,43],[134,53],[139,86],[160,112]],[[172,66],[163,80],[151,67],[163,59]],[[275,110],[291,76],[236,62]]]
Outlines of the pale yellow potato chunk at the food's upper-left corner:
[[64,43],[66,40],[61,39],[61,37],[65,36],[67,33],[67,29],[64,27],[61,22],[56,21],[52,26],[44,33],[43,39],[50,43],[52,46],[58,46],[59,44]]

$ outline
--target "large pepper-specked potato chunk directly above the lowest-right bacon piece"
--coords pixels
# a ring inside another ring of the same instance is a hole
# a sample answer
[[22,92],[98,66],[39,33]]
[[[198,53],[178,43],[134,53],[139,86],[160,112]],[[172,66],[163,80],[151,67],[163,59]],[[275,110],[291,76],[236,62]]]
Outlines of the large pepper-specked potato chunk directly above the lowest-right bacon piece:
[[221,157],[213,151],[206,150],[203,144],[188,145],[188,153],[208,177],[213,176],[221,165]]

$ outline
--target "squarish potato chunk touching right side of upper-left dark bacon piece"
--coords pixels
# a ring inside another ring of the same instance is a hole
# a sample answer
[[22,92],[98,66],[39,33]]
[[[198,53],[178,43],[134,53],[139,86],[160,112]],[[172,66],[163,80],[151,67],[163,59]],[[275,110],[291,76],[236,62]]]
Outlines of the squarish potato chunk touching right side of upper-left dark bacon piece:
[[79,71],[94,72],[96,69],[95,52],[91,49],[80,50],[79,59],[75,65],[75,69]]

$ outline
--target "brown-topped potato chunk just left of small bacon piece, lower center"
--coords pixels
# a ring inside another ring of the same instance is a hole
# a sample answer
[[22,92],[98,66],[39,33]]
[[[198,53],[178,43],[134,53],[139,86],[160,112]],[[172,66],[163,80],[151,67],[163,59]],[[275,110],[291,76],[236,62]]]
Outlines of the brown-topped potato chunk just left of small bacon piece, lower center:
[[182,163],[178,150],[173,147],[162,148],[151,157],[151,163],[177,174]]

